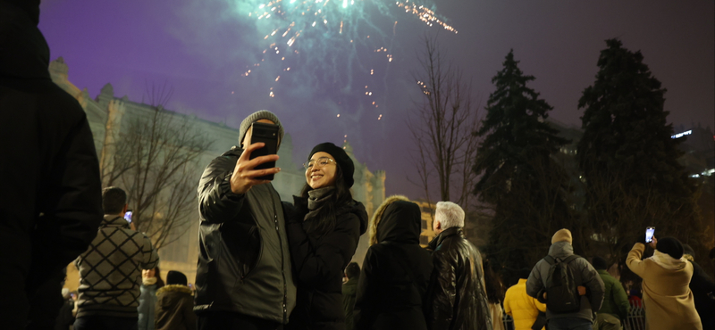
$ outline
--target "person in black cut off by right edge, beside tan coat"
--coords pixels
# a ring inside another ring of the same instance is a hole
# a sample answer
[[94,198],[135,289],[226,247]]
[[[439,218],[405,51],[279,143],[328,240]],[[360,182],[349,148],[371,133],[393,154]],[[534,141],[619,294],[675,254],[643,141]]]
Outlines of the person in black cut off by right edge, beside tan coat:
[[700,315],[703,329],[715,329],[715,300],[712,299],[712,292],[715,290],[715,281],[708,276],[702,267],[695,262],[695,252],[688,244],[683,244],[686,252],[683,257],[693,264],[693,277],[690,278],[690,291],[693,292],[695,309]]

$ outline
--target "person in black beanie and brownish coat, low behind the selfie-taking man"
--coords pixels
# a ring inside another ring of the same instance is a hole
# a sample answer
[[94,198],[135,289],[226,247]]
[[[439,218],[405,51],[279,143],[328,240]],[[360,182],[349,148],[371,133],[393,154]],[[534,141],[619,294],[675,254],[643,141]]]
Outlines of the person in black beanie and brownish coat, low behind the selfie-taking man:
[[193,291],[186,285],[183,273],[166,275],[166,285],[156,291],[156,330],[196,330]]

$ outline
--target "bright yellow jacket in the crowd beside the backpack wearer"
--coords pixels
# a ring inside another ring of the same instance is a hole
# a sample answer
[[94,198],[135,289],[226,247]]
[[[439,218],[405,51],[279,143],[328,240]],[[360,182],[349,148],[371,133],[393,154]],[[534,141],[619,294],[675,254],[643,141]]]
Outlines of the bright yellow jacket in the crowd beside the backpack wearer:
[[526,278],[519,278],[519,283],[507,290],[504,311],[514,318],[515,330],[531,330],[539,311],[546,311],[546,304],[526,294]]

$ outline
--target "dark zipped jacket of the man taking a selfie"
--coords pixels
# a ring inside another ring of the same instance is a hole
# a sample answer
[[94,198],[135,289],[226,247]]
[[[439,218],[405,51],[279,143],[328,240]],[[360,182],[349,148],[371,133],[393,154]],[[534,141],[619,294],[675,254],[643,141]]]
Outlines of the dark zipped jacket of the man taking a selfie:
[[285,324],[295,306],[281,196],[270,183],[231,193],[242,150],[208,164],[198,184],[196,307]]

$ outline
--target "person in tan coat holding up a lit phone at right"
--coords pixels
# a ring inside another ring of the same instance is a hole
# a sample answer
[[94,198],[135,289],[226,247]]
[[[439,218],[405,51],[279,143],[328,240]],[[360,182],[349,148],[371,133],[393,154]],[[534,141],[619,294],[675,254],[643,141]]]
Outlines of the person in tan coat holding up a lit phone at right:
[[645,328],[648,330],[702,330],[695,309],[690,279],[693,264],[683,258],[683,244],[674,237],[657,240],[648,246],[655,252],[643,258],[644,235],[628,252],[626,265],[643,278]]

